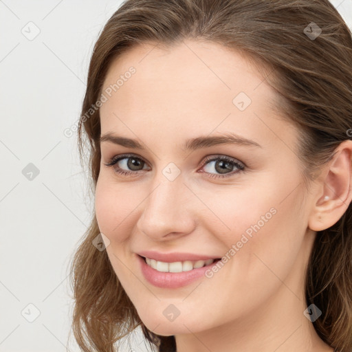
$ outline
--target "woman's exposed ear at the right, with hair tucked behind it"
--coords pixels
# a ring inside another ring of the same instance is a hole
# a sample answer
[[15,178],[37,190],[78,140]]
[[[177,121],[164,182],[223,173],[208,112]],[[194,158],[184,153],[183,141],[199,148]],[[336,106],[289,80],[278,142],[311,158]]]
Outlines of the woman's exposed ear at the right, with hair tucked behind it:
[[322,170],[320,184],[316,188],[308,221],[308,227],[313,231],[325,230],[337,223],[351,203],[352,141],[342,142],[335,152]]

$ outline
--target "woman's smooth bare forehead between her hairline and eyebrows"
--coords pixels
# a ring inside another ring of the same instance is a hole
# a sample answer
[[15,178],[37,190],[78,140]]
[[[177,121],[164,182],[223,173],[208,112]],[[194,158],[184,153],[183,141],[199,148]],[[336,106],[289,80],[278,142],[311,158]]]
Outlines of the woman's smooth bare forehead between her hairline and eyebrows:
[[107,89],[111,96],[100,108],[102,133],[124,130],[133,137],[131,131],[153,131],[158,137],[179,131],[192,137],[194,131],[209,134],[219,126],[272,138],[273,124],[276,129],[288,124],[274,109],[276,92],[256,66],[216,43],[132,47],[111,62],[102,92]]

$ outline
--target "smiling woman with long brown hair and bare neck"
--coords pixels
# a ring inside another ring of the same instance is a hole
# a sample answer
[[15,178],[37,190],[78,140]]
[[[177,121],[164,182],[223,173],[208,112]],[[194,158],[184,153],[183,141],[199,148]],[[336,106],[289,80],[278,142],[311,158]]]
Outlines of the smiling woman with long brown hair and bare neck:
[[81,349],[351,352],[351,100],[328,0],[122,3],[78,126]]

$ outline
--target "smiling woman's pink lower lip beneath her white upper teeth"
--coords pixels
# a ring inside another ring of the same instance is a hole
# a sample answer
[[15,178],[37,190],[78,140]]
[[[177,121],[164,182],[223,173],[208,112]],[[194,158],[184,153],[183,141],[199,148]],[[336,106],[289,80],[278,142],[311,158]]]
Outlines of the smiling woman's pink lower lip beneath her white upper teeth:
[[153,267],[150,267],[144,261],[142,256],[138,254],[136,255],[137,260],[140,261],[140,267],[146,281],[154,286],[168,289],[176,289],[178,287],[189,285],[193,281],[205,276],[206,271],[211,269],[213,265],[217,264],[217,261],[214,261],[214,263],[197,269],[192,269],[188,272],[158,272],[153,269]]

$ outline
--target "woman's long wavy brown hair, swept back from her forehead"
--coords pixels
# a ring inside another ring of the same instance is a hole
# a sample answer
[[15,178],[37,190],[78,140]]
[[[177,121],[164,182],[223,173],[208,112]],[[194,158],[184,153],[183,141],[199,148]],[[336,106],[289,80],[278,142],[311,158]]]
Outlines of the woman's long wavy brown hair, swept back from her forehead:
[[[328,0],[127,0],[94,46],[78,122],[80,162],[89,165],[93,192],[100,171],[97,102],[111,61],[139,43],[172,46],[184,39],[220,43],[258,67],[276,90],[276,109],[300,129],[297,151],[307,186],[352,135],[352,36]],[[92,245],[99,233],[92,214],[72,260],[72,328],[80,348],[116,351],[115,342],[140,326],[151,347],[176,351],[174,336],[158,336],[141,322],[107,252]],[[313,323],[318,335],[351,352],[351,204],[335,225],[317,233],[305,274],[307,306],[322,310]]]

